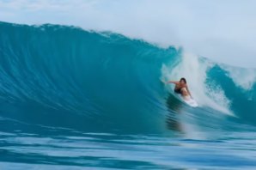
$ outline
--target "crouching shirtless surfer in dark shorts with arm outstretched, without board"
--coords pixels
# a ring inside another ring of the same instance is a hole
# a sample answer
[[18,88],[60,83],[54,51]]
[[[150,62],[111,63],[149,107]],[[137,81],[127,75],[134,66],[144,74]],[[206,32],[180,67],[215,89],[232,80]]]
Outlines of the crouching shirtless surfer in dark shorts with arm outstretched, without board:
[[176,81],[169,81],[168,83],[175,84],[174,92],[177,94],[181,94],[182,97],[186,100],[188,97],[192,98],[192,95],[190,94],[190,91],[186,84],[186,78],[182,77],[180,78],[180,82]]

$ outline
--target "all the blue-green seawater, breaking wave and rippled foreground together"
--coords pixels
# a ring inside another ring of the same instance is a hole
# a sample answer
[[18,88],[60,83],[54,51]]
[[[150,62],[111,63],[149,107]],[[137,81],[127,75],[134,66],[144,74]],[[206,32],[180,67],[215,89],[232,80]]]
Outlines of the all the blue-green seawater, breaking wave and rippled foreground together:
[[[198,107],[163,83],[182,76]],[[0,22],[0,169],[256,169],[255,125],[254,69]]]

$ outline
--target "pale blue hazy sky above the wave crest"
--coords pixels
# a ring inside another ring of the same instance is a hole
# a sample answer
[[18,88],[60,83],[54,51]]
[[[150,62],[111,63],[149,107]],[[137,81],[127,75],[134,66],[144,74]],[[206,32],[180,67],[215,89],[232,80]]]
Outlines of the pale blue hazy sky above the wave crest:
[[256,68],[254,0],[0,0],[0,21],[112,31]]

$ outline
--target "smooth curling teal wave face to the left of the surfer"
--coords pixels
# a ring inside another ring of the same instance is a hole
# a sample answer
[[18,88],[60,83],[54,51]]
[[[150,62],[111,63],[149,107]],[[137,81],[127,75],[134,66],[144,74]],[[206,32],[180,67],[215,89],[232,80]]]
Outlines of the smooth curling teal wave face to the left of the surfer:
[[3,117],[80,131],[162,131],[158,79],[174,48],[76,27],[0,29]]

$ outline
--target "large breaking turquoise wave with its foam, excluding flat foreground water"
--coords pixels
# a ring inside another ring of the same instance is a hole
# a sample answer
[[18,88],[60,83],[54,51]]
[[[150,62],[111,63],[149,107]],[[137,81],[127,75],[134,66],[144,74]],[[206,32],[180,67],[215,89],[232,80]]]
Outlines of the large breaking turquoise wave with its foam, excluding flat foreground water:
[[[214,111],[256,124],[255,70],[172,46],[79,27],[0,22],[0,56],[0,116],[22,124],[159,132],[167,115],[177,112],[174,107],[192,116]],[[183,104],[160,81],[180,76],[199,108]]]

